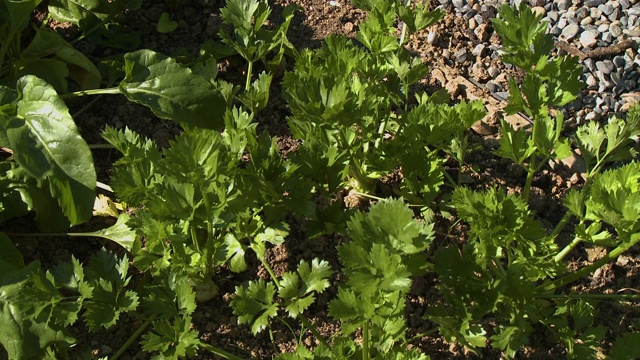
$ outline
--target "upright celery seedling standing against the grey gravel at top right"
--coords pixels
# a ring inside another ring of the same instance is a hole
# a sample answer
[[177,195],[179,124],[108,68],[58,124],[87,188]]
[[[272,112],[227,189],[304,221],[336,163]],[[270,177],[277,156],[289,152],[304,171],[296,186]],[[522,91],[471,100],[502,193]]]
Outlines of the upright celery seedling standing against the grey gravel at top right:
[[524,185],[525,198],[529,198],[534,175],[550,159],[563,159],[571,155],[566,138],[561,135],[564,118],[551,107],[559,107],[576,99],[582,87],[582,69],[577,58],[565,56],[550,59],[553,38],[546,33],[547,24],[525,4],[513,9],[503,5],[500,18],[493,19],[496,31],[504,43],[504,61],[525,72],[521,85],[509,80],[507,114],[520,111],[533,119],[533,130],[526,133],[502,121],[499,156],[509,158],[527,172]]

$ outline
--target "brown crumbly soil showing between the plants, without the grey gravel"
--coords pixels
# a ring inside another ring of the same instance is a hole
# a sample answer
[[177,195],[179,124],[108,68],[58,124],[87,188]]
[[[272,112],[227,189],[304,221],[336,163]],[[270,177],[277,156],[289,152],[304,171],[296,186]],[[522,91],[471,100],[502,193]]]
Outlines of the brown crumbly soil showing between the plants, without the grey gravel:
[[[432,1],[437,3],[437,1]],[[46,5],[46,1],[43,2]],[[152,49],[164,54],[179,54],[185,51],[191,55],[198,53],[200,45],[207,39],[217,39],[217,33],[222,26],[219,9],[224,6],[224,0],[195,0],[187,1],[188,5],[172,14],[178,22],[178,28],[172,33],[161,34],[156,31],[156,24],[167,6],[163,1],[145,0],[140,10],[127,14],[125,25],[131,31],[137,31],[142,36],[141,48]],[[352,7],[347,0],[337,2],[327,0],[277,0],[269,1],[273,14],[271,22],[277,24],[282,21],[281,10],[290,3],[296,3],[301,11],[296,13],[289,30],[290,41],[298,48],[317,48],[322,39],[330,34],[342,34],[355,37],[358,25],[364,20],[365,13]],[[432,4],[435,5],[435,4]],[[482,85],[487,81],[485,73],[469,73],[469,65],[474,61],[484,62],[501,69],[505,74],[495,81],[501,82],[507,88],[506,76],[518,77],[519,74],[490,57],[472,57],[467,63],[450,62],[442,56],[443,51],[455,53],[466,49],[471,53],[479,43],[499,44],[499,38],[491,28],[490,23],[482,31],[472,31],[467,21],[456,17],[451,9],[447,15],[430,29],[415,34],[409,41],[409,48],[419,56],[431,69],[431,73],[419,84],[416,90],[428,92],[446,88],[455,100],[482,99],[489,109],[489,116],[482,123],[475,124],[469,130],[470,141],[478,147],[478,151],[469,156],[468,168],[464,169],[464,182],[476,189],[493,185],[506,187],[510,192],[521,192],[525,180],[525,173],[511,161],[501,159],[492,153],[497,147],[499,136],[499,117],[504,101],[496,99]],[[46,15],[46,6],[42,7],[40,16]],[[483,14],[487,18],[495,16],[495,11]],[[65,24],[52,23],[52,27],[72,38],[74,29]],[[434,41],[427,41],[429,32],[435,33]],[[480,33],[480,37],[477,35]],[[93,56],[95,60],[116,54],[113,50],[103,49],[86,42],[79,43],[79,48],[85,54]],[[232,58],[219,64],[220,77],[237,84],[243,81],[243,61]],[[484,68],[488,68],[485,66]],[[281,75],[281,74],[280,74]],[[278,81],[274,81],[277,84]],[[286,117],[288,111],[277,85],[271,89],[271,100],[268,107],[258,115],[260,131],[266,131],[276,136],[283,156],[289,151],[295,151],[296,141],[288,131]],[[93,99],[91,99],[93,100]],[[87,103],[71,104],[71,113],[84,109]],[[74,115],[76,123],[81,128],[84,138],[89,144],[104,144],[100,133],[106,125],[122,129],[125,126],[150,137],[161,145],[167,145],[180,129],[169,121],[157,119],[146,108],[126,101],[124,96],[110,95],[100,97],[87,110]],[[513,124],[526,131],[529,122],[525,117],[515,116],[510,120]],[[111,164],[118,159],[118,154],[111,149],[94,150],[95,162],[99,181],[109,183]],[[454,164],[451,163],[451,166]],[[453,169],[452,171],[457,170]],[[564,213],[562,206],[563,195],[573,187],[580,187],[583,179],[580,176],[580,163],[568,161],[550,164],[533,181],[531,189],[531,209],[537,218],[548,229],[552,229]],[[344,194],[348,198],[348,194]],[[366,208],[367,203],[356,199],[356,206]],[[438,222],[437,245],[460,243],[464,241],[464,225],[455,224],[455,219],[440,219]],[[96,219],[85,224],[78,231],[91,230],[108,226],[108,220]],[[308,239],[305,236],[303,224],[291,220],[291,234],[286,242],[268,251],[268,262],[278,275],[295,268],[301,259],[318,257],[330,262],[333,269],[339,269],[336,246],[345,239],[341,235],[323,236]],[[7,225],[5,231],[32,232],[30,219],[18,219]],[[571,227],[571,225],[569,226]],[[570,239],[560,235],[561,242]],[[40,259],[44,266],[51,266],[58,261],[70,260],[74,255],[82,260],[95,253],[101,247],[120,252],[117,246],[105,240],[92,238],[30,238],[28,241],[18,240],[20,250],[25,254],[25,260]],[[561,244],[563,245],[563,244]],[[640,289],[640,249],[636,246],[621,256],[616,263],[601,268],[583,282],[574,284],[564,291],[581,291],[593,294],[615,293],[623,288]],[[582,267],[604,255],[601,249],[578,248],[570,256],[570,268]],[[280,352],[292,351],[299,337],[308,346],[314,346],[316,339],[310,333],[299,334],[298,328],[292,332],[279,322],[273,324],[273,339],[268,332],[253,336],[248,326],[238,325],[237,318],[229,306],[230,296],[234,286],[251,279],[267,279],[268,274],[259,262],[249,259],[248,271],[235,274],[226,269],[219,272],[220,295],[213,300],[199,304],[193,315],[193,328],[197,329],[201,338],[214,346],[225,349],[241,357],[269,359]],[[341,279],[337,273],[332,278],[334,283]],[[135,282],[136,276],[134,275]],[[420,349],[432,359],[500,359],[498,351],[486,349],[481,356],[465,352],[459,345],[447,342],[437,332],[433,323],[424,320],[427,305],[441,301],[435,291],[436,279],[432,276],[414,279],[412,291],[407,299],[406,319],[409,325],[408,337],[415,340],[411,347]],[[135,285],[135,284],[134,284]],[[330,337],[339,329],[339,324],[327,314],[327,303],[336,294],[337,286],[332,285],[325,293],[318,295],[317,302],[308,310],[310,320],[325,337]],[[608,327],[607,343],[610,344],[618,334],[629,330],[640,330],[640,307],[632,303],[602,302],[597,323]],[[72,328],[79,344],[72,349],[72,354],[91,354],[93,358],[113,354],[140,326],[142,319],[135,315],[125,315],[113,329],[89,332],[81,321]],[[540,328],[537,336],[530,339],[524,351],[518,358],[522,359],[552,359],[564,358],[563,346],[556,343],[551,336],[547,336]],[[429,335],[420,335],[428,333]],[[136,342],[137,344],[137,342]],[[605,344],[606,345],[606,344]],[[2,354],[0,354],[0,358]],[[123,359],[148,359],[149,353],[144,352],[139,345],[132,346],[122,356]],[[214,355],[202,352],[198,359],[214,359]]]

